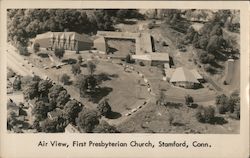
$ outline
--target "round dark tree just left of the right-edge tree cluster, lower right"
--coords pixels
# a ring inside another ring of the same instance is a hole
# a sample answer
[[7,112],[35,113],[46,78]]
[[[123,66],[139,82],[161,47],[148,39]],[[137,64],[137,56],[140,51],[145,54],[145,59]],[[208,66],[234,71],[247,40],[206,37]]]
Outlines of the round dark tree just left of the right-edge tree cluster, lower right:
[[213,106],[200,106],[196,112],[196,118],[202,123],[211,123],[214,119],[215,110]]

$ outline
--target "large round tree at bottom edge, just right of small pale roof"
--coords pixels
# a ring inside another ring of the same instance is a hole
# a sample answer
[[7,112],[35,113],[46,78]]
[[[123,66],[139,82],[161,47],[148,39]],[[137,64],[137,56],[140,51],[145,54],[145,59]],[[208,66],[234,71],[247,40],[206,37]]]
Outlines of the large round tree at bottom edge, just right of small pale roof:
[[98,114],[94,110],[82,109],[76,118],[76,125],[83,133],[90,133],[99,124]]

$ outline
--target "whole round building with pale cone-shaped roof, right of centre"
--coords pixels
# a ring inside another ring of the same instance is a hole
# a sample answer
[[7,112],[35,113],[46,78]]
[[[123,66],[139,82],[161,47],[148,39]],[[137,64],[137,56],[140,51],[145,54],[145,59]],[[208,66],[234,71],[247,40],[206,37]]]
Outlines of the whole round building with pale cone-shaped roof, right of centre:
[[[175,86],[193,89],[200,86],[200,82],[198,81],[200,75],[197,75],[193,73],[194,71],[191,71],[189,69],[186,69],[184,67],[176,68],[172,74],[172,77],[170,79],[170,83],[172,83]],[[197,78],[198,77],[198,78]]]

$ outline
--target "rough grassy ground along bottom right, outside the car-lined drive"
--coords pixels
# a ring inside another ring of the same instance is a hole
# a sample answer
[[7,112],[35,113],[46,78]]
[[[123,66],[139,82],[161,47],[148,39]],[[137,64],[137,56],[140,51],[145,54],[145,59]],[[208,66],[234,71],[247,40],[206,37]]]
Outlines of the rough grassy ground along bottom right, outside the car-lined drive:
[[[185,105],[178,108],[157,106],[152,102],[129,120],[120,124],[118,129],[123,133],[206,133],[232,134],[239,133],[240,121],[225,118],[228,123],[200,123],[195,118],[197,109]],[[170,125],[170,116],[173,118]],[[216,115],[221,118],[221,115]]]

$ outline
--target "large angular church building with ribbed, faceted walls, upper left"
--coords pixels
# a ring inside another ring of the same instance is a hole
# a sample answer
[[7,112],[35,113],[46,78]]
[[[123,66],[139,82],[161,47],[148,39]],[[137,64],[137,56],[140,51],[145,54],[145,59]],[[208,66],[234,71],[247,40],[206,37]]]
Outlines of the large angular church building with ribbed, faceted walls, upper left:
[[82,51],[90,50],[93,41],[86,34],[76,32],[46,32],[38,34],[34,44],[38,43],[40,48],[51,49],[63,48],[65,50]]

